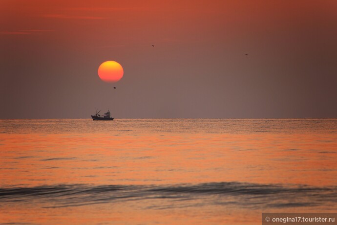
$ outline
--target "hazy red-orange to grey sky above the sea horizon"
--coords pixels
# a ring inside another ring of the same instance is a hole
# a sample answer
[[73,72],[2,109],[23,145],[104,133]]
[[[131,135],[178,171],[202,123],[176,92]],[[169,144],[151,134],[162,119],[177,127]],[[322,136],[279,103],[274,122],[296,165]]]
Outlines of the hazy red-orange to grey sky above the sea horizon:
[[0,0],[0,78],[0,119],[336,118],[337,1]]

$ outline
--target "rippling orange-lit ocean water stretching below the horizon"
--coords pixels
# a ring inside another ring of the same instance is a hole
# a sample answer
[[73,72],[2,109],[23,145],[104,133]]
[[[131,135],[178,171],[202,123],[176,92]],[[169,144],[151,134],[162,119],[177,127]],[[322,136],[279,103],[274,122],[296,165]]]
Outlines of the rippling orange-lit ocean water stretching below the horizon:
[[337,119],[0,120],[0,224],[336,212]]

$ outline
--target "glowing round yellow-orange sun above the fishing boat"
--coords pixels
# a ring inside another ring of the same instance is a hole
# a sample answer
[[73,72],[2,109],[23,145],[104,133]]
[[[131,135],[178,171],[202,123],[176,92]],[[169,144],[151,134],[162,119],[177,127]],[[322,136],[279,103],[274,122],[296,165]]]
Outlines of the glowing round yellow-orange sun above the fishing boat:
[[123,77],[123,67],[115,61],[106,61],[98,67],[98,76],[104,82],[115,83]]

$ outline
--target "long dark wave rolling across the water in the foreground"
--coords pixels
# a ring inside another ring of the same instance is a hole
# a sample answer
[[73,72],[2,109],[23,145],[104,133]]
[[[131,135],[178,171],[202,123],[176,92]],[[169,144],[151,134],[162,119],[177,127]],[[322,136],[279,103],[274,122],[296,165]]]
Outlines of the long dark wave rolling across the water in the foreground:
[[[283,186],[244,182],[179,185],[57,185],[0,188],[0,203],[46,203],[45,207],[69,207],[120,201],[152,200],[151,207],[236,205],[252,208],[327,206],[336,208],[337,187]],[[155,200],[165,200],[156,204]]]

